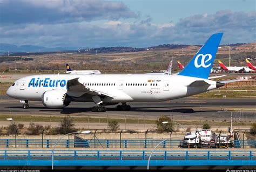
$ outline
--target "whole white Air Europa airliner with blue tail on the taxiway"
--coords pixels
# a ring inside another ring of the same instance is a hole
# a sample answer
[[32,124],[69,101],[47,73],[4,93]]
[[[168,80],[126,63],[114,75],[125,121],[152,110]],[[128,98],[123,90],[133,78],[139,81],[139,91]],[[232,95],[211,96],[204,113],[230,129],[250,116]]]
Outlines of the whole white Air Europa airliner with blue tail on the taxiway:
[[223,33],[213,34],[194,58],[177,75],[32,75],[15,81],[6,94],[21,100],[42,101],[50,108],[70,102],[94,102],[93,112],[104,112],[104,105],[130,110],[127,102],[161,102],[196,95],[222,87],[224,83],[208,80]]

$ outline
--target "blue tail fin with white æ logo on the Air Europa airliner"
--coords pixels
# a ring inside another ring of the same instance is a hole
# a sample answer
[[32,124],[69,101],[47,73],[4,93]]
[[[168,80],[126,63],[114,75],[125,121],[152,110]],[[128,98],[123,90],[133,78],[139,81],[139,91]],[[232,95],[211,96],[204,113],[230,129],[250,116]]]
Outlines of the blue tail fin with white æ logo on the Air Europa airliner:
[[223,33],[215,33],[199,49],[194,58],[178,75],[207,79],[215,59]]

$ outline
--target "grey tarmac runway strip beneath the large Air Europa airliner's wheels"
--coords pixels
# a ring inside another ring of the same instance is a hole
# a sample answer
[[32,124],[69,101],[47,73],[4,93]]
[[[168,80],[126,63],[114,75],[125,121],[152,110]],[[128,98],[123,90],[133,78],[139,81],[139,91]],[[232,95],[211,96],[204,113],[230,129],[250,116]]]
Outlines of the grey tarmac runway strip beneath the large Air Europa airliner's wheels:
[[[94,103],[71,102],[63,109],[48,109],[42,102],[29,102],[30,108],[23,109],[22,103],[8,96],[0,96],[0,115],[35,115],[113,117],[113,118],[146,118],[157,119],[165,115],[179,120],[229,120],[230,112],[233,118],[243,121],[255,121],[256,99],[210,99],[210,98],[180,98],[160,103],[132,102],[131,111],[117,111],[116,105],[106,106],[106,112],[91,112]],[[241,112],[240,112],[241,111]]]

